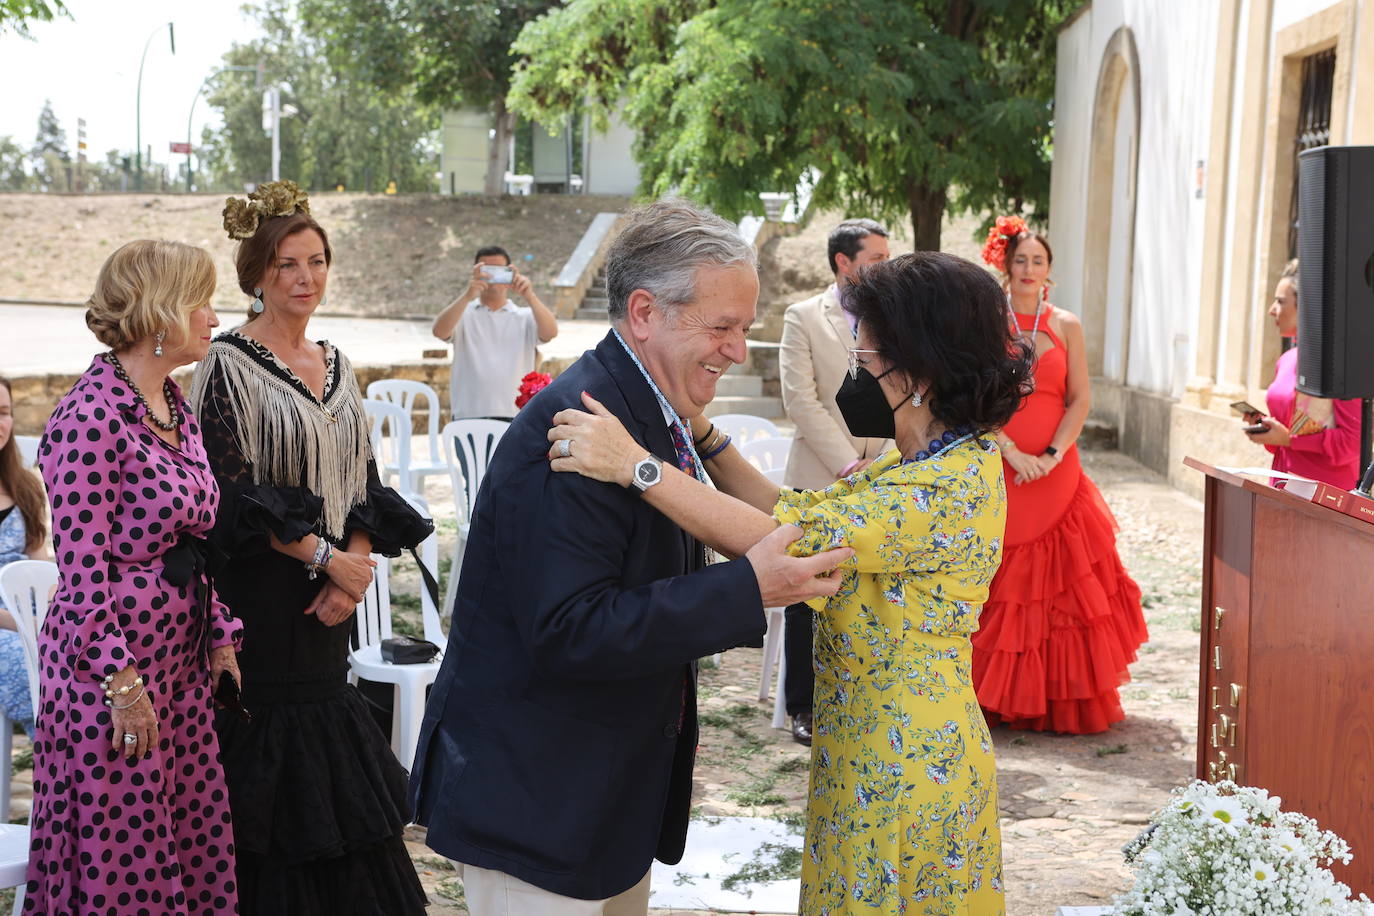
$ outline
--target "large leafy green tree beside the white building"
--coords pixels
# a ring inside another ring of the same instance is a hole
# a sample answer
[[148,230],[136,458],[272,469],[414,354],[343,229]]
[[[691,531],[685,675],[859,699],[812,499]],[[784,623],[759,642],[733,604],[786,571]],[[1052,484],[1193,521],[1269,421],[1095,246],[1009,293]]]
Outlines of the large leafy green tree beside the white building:
[[625,100],[642,191],[725,216],[813,201],[911,220],[1047,203],[1058,26],[1081,0],[569,0],[530,23],[511,107],[551,126]]

